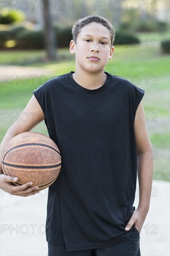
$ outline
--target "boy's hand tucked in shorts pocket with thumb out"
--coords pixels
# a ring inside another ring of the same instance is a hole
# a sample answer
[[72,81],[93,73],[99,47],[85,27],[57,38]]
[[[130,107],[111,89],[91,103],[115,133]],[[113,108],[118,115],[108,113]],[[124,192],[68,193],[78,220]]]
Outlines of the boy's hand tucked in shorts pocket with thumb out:
[[139,210],[135,210],[132,213],[131,219],[129,220],[129,222],[127,223],[125,230],[129,231],[131,229],[131,227],[135,226],[135,228],[137,229],[139,235],[142,229],[142,226],[144,224],[144,220],[146,218],[147,213],[143,212],[143,211],[139,211]]

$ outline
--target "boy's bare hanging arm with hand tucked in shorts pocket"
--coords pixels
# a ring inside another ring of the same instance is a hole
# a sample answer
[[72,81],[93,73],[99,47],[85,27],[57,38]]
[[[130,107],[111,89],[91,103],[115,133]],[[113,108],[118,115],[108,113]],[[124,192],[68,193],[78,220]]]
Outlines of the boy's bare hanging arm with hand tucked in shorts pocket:
[[[139,118],[140,117],[140,118]],[[139,204],[133,212],[127,226],[135,224],[139,233],[150,206],[150,195],[153,179],[152,145],[147,131],[144,108],[140,102],[135,116],[135,139],[137,148],[137,175],[139,181]],[[126,227],[127,227],[126,226]],[[125,228],[125,230],[128,230]]]

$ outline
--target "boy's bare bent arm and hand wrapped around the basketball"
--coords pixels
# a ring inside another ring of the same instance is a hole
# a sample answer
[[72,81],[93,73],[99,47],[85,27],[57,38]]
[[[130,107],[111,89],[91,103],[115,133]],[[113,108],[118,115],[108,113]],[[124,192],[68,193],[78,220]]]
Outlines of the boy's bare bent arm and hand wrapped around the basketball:
[[[20,133],[30,131],[37,124],[39,124],[41,121],[45,119],[45,115],[34,95],[30,99],[30,101],[28,102],[28,104],[26,105],[26,108],[23,110],[22,113],[26,113],[28,120],[26,122],[22,122],[22,119],[19,117],[19,119],[15,121],[13,125],[7,130],[7,133],[0,144],[1,157],[8,141],[10,141],[14,136]],[[10,194],[12,195],[17,195],[19,190],[22,191],[22,196],[35,194],[36,192],[33,192],[33,189],[35,189],[35,187],[27,189],[28,186],[30,186],[31,181],[22,186],[13,186],[10,183],[10,182],[15,182],[14,177],[3,175],[2,167],[1,167],[1,157],[0,157],[0,188],[3,190],[6,189],[7,192],[10,191],[11,192]]]

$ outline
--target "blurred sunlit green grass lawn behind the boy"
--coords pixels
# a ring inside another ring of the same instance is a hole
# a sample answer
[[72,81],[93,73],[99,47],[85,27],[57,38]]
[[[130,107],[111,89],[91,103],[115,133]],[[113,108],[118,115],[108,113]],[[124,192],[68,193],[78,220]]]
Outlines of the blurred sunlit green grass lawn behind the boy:
[[[127,76],[137,87],[145,90],[143,105],[147,116],[147,128],[152,148],[157,152],[154,160],[154,179],[170,180],[169,176],[169,55],[163,54],[160,34],[140,34],[142,40],[157,38],[156,48],[146,47],[145,42],[140,47],[115,47],[111,61],[108,61],[105,71],[119,76]],[[26,65],[31,67],[44,67],[51,70],[53,75],[65,74],[75,71],[75,57],[69,49],[59,49],[58,60],[42,61],[45,51],[5,51],[1,53],[2,64]],[[39,62],[41,60],[41,62]],[[46,75],[46,74],[44,74]],[[48,77],[48,76],[47,76]],[[52,77],[52,76],[51,76]],[[50,78],[50,76],[48,77]],[[8,115],[1,121],[0,138],[5,135],[15,121],[11,116],[19,115],[26,103],[33,95],[33,90],[39,87],[39,80],[34,85],[30,80],[27,85],[6,82],[0,88],[1,113]],[[2,117],[2,116],[1,116]],[[3,116],[4,117],[4,116]],[[47,135],[45,123],[40,123],[33,131]]]

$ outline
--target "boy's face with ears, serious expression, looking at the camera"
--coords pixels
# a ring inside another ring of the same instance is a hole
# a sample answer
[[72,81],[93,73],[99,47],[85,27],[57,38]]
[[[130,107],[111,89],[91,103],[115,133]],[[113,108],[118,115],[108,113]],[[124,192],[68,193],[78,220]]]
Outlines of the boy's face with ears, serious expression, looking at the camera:
[[82,28],[76,44],[73,40],[70,42],[70,53],[76,54],[76,68],[89,73],[104,69],[108,60],[112,58],[113,52],[109,29],[96,22]]

